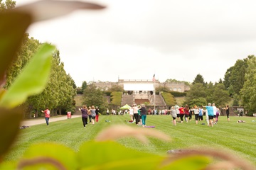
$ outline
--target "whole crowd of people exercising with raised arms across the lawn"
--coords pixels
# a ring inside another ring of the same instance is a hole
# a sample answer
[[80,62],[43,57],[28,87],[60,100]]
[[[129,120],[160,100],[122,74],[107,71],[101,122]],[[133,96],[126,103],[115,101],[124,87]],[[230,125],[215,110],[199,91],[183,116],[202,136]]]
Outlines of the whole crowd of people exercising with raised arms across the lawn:
[[[223,109],[226,111],[228,121],[230,121],[229,106],[227,105]],[[99,121],[100,109],[97,106],[89,106],[87,108],[87,106],[83,105],[82,108],[79,110],[82,113],[82,124],[84,128],[88,124],[88,118],[89,123],[92,123],[92,125],[94,125],[95,122]],[[50,110],[46,108],[46,110],[42,112],[45,114],[46,125],[48,126],[50,119]],[[172,106],[169,110],[166,109],[165,114],[167,114],[167,112],[170,112],[170,115],[173,118],[172,122],[174,125],[176,125],[176,119],[179,122],[183,123],[184,118],[186,123],[188,123],[188,121],[191,121],[192,115],[195,116],[196,124],[198,124],[198,121],[203,120],[203,115],[205,114],[208,126],[213,127],[213,124],[218,123],[218,116],[220,115],[220,109],[215,106],[215,103],[208,103],[208,106],[193,106],[192,108],[189,108],[188,105],[186,105],[185,107]],[[151,111],[146,111],[146,107],[144,104],[142,104],[141,106],[137,106],[137,104],[135,103],[131,108],[129,108],[129,115],[131,118],[130,121],[136,123],[136,125],[142,125],[142,127],[146,127],[146,113],[151,113]],[[107,115],[109,115],[108,109]]]

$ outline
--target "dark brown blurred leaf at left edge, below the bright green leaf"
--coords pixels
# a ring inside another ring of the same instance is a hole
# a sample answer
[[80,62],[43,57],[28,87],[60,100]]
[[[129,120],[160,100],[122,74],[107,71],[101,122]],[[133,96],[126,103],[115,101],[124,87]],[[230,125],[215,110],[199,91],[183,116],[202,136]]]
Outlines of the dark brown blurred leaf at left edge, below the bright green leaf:
[[11,147],[12,143],[16,139],[19,132],[19,126],[23,115],[17,108],[9,109],[0,108],[0,129],[2,130],[0,135],[0,162],[4,157],[4,154]]

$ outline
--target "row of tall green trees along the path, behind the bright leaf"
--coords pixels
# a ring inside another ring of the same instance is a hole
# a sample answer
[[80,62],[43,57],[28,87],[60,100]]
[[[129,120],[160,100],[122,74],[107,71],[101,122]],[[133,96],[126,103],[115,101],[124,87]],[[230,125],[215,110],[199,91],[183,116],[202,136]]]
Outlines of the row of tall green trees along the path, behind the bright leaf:
[[[24,35],[21,50],[6,74],[5,89],[11,86],[23,67],[26,66],[32,55],[41,45],[42,43],[38,40],[29,38],[28,33]],[[70,74],[65,72],[64,63],[60,62],[60,52],[55,50],[46,89],[41,94],[29,97],[26,103],[23,103],[24,113],[26,113],[26,117],[31,118],[31,113],[34,113],[37,117],[44,108],[49,108],[53,115],[66,111],[75,111],[75,95],[75,81]]]

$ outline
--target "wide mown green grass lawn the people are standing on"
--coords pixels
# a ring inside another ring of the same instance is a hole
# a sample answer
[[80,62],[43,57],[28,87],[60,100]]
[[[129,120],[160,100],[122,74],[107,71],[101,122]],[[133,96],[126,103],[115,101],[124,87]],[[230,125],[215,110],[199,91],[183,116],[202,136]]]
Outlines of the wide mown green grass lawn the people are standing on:
[[[111,122],[105,122],[110,120]],[[98,132],[114,124],[125,124],[136,128],[137,125],[129,124],[129,115],[100,115],[100,122],[95,125],[82,126],[81,118],[71,118],[45,124],[33,125],[31,128],[22,129],[13,149],[6,156],[6,161],[20,158],[23,152],[33,143],[57,142],[78,151],[80,145],[88,140],[93,140]],[[155,130],[160,130],[172,138],[171,142],[163,142],[150,138],[150,143],[145,145],[134,138],[122,138],[117,142],[126,147],[151,152],[155,154],[166,154],[170,149],[185,149],[188,147],[208,147],[226,149],[231,154],[247,159],[256,165],[256,118],[252,117],[230,117],[230,122],[225,116],[220,116],[218,125],[213,128],[196,125],[195,120],[189,123],[177,123],[172,125],[170,115],[147,115],[146,125],[154,125]],[[246,123],[236,123],[237,120],[245,120]],[[255,120],[253,122],[252,120]]]

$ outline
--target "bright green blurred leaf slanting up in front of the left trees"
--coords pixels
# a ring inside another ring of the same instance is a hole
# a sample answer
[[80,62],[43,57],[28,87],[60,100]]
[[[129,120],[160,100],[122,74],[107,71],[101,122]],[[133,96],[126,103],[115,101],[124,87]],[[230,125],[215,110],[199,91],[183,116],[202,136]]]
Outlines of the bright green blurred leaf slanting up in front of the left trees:
[[2,96],[0,106],[13,108],[20,105],[31,95],[39,94],[46,86],[50,74],[52,52],[55,47],[45,44],[28,62],[14,84]]

